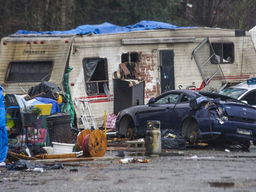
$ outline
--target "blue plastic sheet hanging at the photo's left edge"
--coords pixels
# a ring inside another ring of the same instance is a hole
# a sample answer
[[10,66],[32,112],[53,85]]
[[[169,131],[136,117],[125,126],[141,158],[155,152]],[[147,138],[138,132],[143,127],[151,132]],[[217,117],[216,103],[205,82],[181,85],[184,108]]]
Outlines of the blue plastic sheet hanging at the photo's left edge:
[[4,93],[0,86],[0,162],[5,161],[8,152],[8,134],[5,125]]

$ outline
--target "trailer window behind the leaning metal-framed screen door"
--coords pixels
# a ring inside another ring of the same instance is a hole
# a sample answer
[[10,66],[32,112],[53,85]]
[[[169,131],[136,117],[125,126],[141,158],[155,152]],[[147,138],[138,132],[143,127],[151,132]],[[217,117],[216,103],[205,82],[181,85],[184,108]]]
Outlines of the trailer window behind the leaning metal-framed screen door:
[[219,63],[234,62],[234,44],[233,43],[211,43],[211,44]]

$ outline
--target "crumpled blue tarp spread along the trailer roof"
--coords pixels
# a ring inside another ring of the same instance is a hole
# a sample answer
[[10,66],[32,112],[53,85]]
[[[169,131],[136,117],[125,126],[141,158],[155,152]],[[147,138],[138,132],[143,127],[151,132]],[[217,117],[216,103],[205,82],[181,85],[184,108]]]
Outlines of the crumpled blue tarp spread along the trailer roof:
[[157,22],[157,21],[140,21],[134,25],[128,26],[117,26],[111,23],[102,23],[99,25],[81,25],[76,27],[73,30],[68,31],[45,31],[45,32],[37,32],[37,31],[22,31],[19,30],[15,33],[15,35],[19,34],[44,34],[44,35],[70,35],[70,34],[107,34],[107,33],[121,33],[121,32],[129,32],[129,31],[143,31],[143,30],[157,30],[157,29],[171,29],[175,30],[177,28],[192,28],[192,27],[177,27],[175,25],[171,25],[169,23]]

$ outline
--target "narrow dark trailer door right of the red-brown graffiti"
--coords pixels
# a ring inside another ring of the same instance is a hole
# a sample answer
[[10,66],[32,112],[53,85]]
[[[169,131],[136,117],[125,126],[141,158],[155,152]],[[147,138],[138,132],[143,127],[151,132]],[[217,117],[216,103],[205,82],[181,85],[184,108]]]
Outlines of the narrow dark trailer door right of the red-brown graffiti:
[[174,50],[160,50],[161,94],[175,89],[174,85]]

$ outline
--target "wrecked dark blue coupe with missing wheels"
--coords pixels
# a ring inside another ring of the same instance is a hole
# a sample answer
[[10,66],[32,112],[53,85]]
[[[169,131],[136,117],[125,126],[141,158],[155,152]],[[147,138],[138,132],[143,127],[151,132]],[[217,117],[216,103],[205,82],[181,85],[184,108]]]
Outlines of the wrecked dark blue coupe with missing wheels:
[[119,112],[116,132],[128,139],[144,137],[147,121],[160,121],[190,143],[222,139],[243,148],[256,140],[256,108],[212,92],[167,91],[146,105]]

